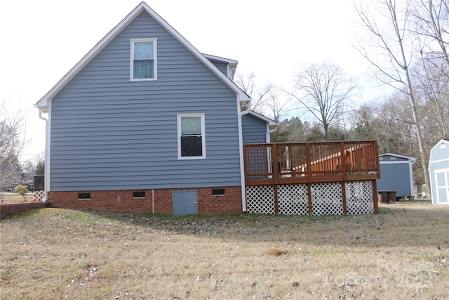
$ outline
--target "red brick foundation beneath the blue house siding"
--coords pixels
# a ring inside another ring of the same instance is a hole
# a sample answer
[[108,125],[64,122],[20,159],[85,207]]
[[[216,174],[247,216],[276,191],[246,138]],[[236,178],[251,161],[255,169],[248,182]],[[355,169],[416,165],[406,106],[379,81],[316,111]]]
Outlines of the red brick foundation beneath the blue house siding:
[[[212,195],[214,189],[225,189],[224,195]],[[172,214],[174,190],[196,190],[199,214],[240,214],[241,188],[180,188],[154,190],[154,214]],[[133,197],[133,192],[145,192],[145,197]],[[88,199],[79,199],[79,194]],[[152,214],[152,190],[83,190],[76,192],[49,192],[48,201],[53,207],[92,209],[129,214]]]

